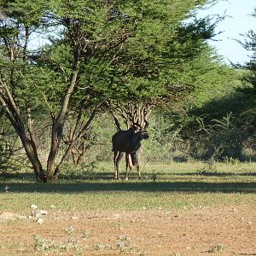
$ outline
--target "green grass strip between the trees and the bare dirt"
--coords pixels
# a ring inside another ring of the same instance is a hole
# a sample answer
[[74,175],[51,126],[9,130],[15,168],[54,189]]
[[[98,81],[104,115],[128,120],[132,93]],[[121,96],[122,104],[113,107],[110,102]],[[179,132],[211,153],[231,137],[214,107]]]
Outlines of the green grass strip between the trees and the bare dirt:
[[[146,164],[142,165],[143,180],[131,172],[129,181],[115,181],[112,165],[100,163],[90,171],[67,171],[54,184],[35,183],[33,173],[2,175],[0,211],[27,212],[32,204],[75,212],[255,204],[255,164],[218,164],[214,172],[206,170],[198,162]],[[5,185],[9,185],[8,193]]]

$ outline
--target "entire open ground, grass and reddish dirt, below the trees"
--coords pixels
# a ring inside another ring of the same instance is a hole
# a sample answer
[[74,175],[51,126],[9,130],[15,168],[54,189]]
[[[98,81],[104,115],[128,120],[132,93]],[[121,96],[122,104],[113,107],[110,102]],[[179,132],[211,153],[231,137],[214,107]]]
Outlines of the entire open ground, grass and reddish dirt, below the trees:
[[[116,181],[103,163],[53,184],[2,174],[0,216],[25,218],[0,219],[0,254],[253,255],[256,164],[144,164],[142,174]],[[44,224],[28,218],[31,205],[49,212]]]

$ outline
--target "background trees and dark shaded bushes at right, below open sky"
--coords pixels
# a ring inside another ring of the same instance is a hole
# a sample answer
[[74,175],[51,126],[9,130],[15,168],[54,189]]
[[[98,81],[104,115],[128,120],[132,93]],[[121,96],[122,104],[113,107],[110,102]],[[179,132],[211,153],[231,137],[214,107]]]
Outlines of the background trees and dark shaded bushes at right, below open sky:
[[194,65],[201,73],[195,82],[199,86],[187,97],[194,108],[187,108],[189,111],[172,124],[173,130],[178,127],[194,158],[254,159],[255,32],[249,31],[245,37],[245,42],[239,43],[253,55],[244,66],[230,68],[218,61],[205,62],[211,57],[209,54],[203,57],[205,65],[201,65],[201,59],[195,59]]

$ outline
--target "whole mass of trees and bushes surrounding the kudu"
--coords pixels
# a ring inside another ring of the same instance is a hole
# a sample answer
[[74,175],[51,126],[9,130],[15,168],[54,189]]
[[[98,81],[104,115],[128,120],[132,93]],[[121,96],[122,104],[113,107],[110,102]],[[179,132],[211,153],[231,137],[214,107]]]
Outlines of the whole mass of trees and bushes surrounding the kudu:
[[224,64],[208,44],[223,17],[195,18],[214,2],[1,1],[0,172],[93,170],[112,160],[111,113],[125,129],[138,105],[144,164],[254,161],[255,32],[251,60]]

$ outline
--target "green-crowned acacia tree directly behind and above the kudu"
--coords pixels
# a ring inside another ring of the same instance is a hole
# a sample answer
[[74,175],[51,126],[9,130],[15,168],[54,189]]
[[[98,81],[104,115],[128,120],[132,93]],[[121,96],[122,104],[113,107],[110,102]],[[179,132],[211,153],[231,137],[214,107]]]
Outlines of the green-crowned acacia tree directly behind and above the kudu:
[[[140,14],[144,16],[137,24],[137,32],[112,62],[110,91],[113,94],[108,98],[108,107],[112,115],[118,114],[128,126],[132,124],[131,120],[137,120],[143,126],[145,115],[148,116],[152,109],[180,105],[184,97],[199,94],[203,84],[214,86],[213,81],[216,83],[219,76],[215,75],[216,79],[213,79],[209,70],[214,74],[224,68],[220,67],[218,57],[207,44],[207,40],[215,36],[219,20],[211,23],[204,18],[183,22],[195,15],[193,10],[198,5],[192,1],[182,5],[177,3],[180,2],[172,3],[176,7],[172,11],[168,9],[169,3],[141,10]],[[116,122],[117,115],[114,120]],[[120,125],[116,126],[121,129]]]

